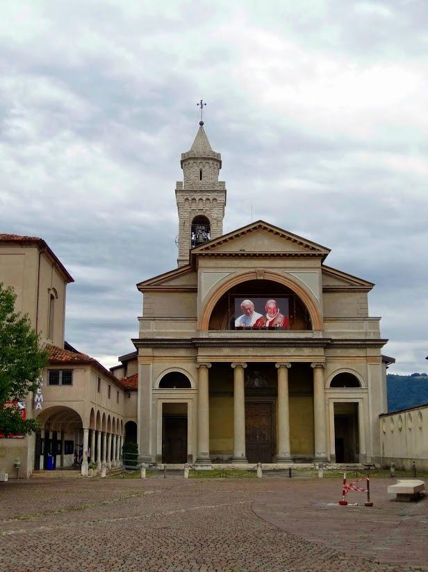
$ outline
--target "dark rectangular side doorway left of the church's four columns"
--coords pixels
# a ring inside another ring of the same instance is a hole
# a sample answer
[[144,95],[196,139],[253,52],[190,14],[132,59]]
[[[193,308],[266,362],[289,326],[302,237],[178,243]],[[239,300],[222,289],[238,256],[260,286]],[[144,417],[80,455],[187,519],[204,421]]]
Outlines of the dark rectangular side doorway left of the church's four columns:
[[162,462],[187,463],[187,404],[163,404]]

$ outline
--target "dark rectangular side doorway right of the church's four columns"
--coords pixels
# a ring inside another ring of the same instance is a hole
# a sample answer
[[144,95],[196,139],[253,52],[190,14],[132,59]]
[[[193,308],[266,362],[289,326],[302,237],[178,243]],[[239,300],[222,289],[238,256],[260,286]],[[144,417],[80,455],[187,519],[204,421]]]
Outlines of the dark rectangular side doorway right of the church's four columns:
[[359,463],[358,404],[334,404],[336,463]]

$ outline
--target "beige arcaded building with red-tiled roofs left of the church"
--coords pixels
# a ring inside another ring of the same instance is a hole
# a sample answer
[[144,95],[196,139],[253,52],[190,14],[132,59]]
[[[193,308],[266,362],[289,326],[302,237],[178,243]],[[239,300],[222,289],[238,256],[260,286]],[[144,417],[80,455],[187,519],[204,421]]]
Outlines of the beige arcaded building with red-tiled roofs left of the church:
[[65,294],[72,276],[44,240],[0,235],[0,282],[14,288],[15,309],[28,315],[49,353],[38,390],[22,404],[40,429],[0,438],[0,470],[28,477],[50,467],[80,468],[88,475],[89,461],[99,473],[117,466],[126,422],[136,418],[136,387],[65,342]]

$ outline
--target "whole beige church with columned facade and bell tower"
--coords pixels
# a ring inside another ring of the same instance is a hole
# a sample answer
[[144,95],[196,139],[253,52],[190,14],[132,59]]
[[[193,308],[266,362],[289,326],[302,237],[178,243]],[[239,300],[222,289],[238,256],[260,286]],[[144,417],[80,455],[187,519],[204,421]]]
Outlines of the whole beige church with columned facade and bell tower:
[[221,166],[201,122],[176,183],[178,268],[138,284],[141,461],[379,463],[374,285],[264,221],[223,235]]

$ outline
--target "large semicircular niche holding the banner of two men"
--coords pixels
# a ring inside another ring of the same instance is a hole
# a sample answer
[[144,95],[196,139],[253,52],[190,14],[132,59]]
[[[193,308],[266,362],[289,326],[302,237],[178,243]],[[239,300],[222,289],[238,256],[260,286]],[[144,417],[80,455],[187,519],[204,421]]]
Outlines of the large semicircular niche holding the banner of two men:
[[[279,319],[268,321],[268,316],[275,315]],[[208,329],[311,330],[312,320],[302,298],[293,289],[276,280],[256,278],[233,285],[220,296],[211,312]]]

